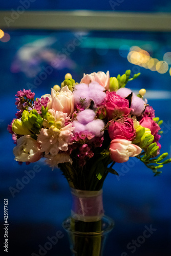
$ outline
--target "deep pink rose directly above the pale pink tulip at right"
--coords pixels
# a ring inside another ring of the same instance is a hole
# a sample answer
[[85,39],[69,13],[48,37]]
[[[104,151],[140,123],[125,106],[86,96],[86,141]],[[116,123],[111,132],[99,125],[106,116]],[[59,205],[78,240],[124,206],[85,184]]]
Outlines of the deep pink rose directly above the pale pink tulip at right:
[[109,123],[109,136],[111,140],[126,139],[133,141],[136,136],[134,121],[131,118],[123,117]]

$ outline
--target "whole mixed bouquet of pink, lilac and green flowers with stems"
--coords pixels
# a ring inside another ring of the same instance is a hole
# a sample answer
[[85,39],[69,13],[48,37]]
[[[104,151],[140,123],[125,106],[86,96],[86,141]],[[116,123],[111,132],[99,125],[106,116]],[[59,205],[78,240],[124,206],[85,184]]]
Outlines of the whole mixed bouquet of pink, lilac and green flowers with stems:
[[[18,112],[8,126],[16,143],[15,160],[32,163],[44,157],[52,169],[61,169],[72,188],[72,216],[79,216],[71,223],[73,230],[101,229],[100,191],[109,172],[118,175],[112,168],[115,162],[137,157],[156,176],[171,161],[163,160],[167,153],[160,155],[162,120],[147,104],[145,89],[136,95],[125,88],[140,73],[132,78],[130,74],[130,70],[117,77],[110,77],[109,71],[84,74],[80,83],[66,74],[61,87],[54,86],[51,94],[34,99],[35,94],[24,89],[15,95]],[[85,211],[85,204],[91,210]],[[75,243],[82,250],[83,241],[75,239]],[[98,255],[99,244],[99,238],[93,242],[94,254],[85,249],[85,254],[76,255]]]

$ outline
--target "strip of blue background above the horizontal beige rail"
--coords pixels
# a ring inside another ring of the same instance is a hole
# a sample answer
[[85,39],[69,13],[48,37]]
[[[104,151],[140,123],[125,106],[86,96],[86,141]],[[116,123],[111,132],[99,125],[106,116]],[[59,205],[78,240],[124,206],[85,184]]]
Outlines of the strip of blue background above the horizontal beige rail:
[[[24,0],[23,0],[24,1]],[[21,2],[23,2],[21,0]],[[1,2],[2,10],[16,9],[20,5],[17,0]],[[169,0],[116,0],[116,1],[62,1],[62,0],[30,0],[29,11],[31,10],[96,10],[96,11],[138,11],[138,12],[170,12]]]

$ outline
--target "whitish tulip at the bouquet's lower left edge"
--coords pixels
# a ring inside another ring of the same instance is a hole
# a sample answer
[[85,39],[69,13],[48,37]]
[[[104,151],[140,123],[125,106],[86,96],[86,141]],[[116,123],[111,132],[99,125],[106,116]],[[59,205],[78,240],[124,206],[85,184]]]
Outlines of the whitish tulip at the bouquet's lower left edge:
[[15,160],[19,162],[36,162],[41,158],[40,144],[29,135],[17,139],[17,146],[13,149]]

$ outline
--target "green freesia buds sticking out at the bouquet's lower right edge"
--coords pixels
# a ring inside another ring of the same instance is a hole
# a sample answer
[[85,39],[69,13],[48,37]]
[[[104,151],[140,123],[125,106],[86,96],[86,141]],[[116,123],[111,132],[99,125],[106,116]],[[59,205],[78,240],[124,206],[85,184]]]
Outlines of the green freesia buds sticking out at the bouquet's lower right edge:
[[152,143],[147,147],[146,152],[137,156],[137,158],[140,159],[148,168],[152,169],[155,176],[162,173],[161,171],[158,171],[158,169],[162,168],[163,164],[171,162],[171,158],[162,162],[162,160],[168,156],[168,153],[163,153],[158,158],[154,158],[157,154],[158,148],[157,143]]

